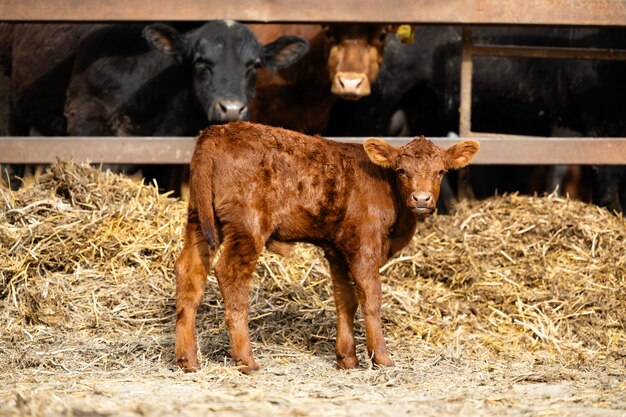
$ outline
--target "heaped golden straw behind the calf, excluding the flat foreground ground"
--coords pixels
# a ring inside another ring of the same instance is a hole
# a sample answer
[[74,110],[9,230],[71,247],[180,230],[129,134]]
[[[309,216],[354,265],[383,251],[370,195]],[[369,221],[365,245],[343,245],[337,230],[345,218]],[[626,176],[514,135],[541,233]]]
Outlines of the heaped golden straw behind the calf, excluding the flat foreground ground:
[[[171,367],[173,262],[186,204],[153,186],[60,161],[0,187],[0,366]],[[399,349],[585,363],[626,357],[626,221],[556,197],[496,196],[420,223],[381,268]],[[332,355],[335,313],[317,248],[263,253],[250,294],[255,349]],[[198,315],[205,361],[228,355],[216,280]],[[357,325],[360,345],[363,330]],[[275,348],[272,348],[275,349]],[[392,351],[393,352],[393,351]]]

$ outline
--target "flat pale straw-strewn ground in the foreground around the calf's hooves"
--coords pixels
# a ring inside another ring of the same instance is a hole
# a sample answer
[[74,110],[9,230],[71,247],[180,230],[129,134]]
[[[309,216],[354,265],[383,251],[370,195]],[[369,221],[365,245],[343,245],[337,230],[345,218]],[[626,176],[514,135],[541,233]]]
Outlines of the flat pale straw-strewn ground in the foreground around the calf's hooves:
[[2,376],[0,415],[626,416],[623,361],[571,369],[393,345],[393,369],[340,371],[330,354],[263,346],[251,376],[219,361],[196,374],[169,361],[142,373],[24,370]]

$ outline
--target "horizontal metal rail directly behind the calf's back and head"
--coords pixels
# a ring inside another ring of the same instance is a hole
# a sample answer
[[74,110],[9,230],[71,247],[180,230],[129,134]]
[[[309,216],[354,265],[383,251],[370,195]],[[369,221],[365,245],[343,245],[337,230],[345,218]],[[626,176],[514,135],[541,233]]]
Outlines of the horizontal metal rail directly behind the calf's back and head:
[[[364,137],[331,138],[363,143]],[[412,138],[386,138],[401,146]],[[626,165],[624,138],[476,138],[475,163],[552,165]],[[448,147],[458,138],[432,138]],[[0,163],[51,163],[57,158],[114,164],[187,164],[194,139],[189,137],[1,137]]]

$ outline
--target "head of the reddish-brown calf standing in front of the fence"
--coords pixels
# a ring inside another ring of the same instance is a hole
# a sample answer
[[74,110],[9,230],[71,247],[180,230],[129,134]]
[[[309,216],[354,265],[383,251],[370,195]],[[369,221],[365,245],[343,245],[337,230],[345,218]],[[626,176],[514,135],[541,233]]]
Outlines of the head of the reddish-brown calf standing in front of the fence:
[[426,217],[435,209],[443,175],[469,164],[480,145],[464,140],[443,149],[421,136],[401,148],[377,138],[367,139],[363,147],[373,163],[396,172],[398,191],[409,210]]

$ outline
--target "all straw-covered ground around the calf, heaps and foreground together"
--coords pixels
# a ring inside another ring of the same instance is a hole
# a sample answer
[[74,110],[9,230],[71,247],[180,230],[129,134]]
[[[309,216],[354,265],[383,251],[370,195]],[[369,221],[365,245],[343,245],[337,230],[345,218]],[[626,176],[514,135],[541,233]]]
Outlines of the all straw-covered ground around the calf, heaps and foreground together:
[[[381,268],[396,366],[334,366],[319,250],[263,253],[250,294],[261,369],[228,359],[217,281],[202,368],[173,366],[173,260],[186,205],[88,165],[0,186],[1,416],[626,417],[626,220],[498,196],[420,224]],[[7,256],[8,255],[8,256]]]

